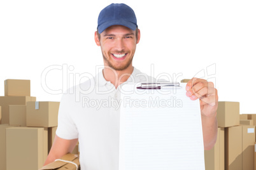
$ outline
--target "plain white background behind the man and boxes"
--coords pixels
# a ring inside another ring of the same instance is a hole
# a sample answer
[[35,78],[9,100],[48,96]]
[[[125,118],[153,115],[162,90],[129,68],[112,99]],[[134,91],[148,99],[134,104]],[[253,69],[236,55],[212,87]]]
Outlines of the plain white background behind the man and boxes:
[[[155,77],[167,73],[172,81],[199,77],[205,70],[204,79],[215,82],[220,101],[239,101],[241,114],[256,114],[256,1],[248,0],[1,0],[0,95],[5,79],[30,79],[38,101],[60,101],[61,94],[42,88],[42,74],[53,90],[85,81],[83,73],[95,75],[96,65],[103,65],[94,42],[97,16],[111,3],[126,3],[136,13],[141,30],[133,62],[137,69]],[[62,70],[45,74],[47,67]]]

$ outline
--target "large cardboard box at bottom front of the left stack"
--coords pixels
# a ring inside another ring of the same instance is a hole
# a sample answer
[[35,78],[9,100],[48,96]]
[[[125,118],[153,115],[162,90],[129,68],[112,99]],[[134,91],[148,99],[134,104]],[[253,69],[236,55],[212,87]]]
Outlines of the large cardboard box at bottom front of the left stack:
[[34,170],[48,154],[47,128],[6,128],[6,169]]

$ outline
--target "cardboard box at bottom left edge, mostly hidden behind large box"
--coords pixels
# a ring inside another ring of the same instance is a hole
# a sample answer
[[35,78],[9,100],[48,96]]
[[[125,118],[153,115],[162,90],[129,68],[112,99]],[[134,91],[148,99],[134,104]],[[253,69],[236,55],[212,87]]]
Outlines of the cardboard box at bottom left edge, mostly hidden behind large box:
[[8,124],[0,124],[0,169],[6,169],[6,128],[11,128]]

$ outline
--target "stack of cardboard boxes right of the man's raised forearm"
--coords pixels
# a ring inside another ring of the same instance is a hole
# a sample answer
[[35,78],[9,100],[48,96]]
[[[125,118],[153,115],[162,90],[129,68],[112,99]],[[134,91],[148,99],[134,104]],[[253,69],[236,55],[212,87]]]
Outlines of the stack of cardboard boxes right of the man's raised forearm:
[[204,151],[206,170],[256,170],[256,114],[240,114],[239,102],[218,101],[217,120],[215,146]]

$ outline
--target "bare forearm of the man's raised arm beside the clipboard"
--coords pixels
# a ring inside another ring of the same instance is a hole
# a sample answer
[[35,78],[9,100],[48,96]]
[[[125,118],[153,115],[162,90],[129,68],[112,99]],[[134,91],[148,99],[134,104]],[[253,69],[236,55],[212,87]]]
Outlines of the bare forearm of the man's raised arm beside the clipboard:
[[218,122],[216,115],[213,117],[202,115],[204,150],[210,150],[217,140]]

